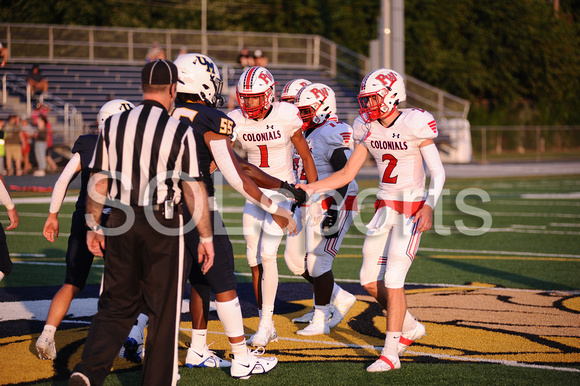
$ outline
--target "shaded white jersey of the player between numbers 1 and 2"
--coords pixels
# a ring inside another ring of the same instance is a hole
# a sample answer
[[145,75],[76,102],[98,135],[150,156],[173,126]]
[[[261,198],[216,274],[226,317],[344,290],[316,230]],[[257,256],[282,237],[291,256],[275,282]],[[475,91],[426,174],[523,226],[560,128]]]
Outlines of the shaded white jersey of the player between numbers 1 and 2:
[[[308,134],[306,142],[312,153],[319,180],[335,172],[330,163],[330,158],[336,149],[341,147],[349,148],[351,152],[347,153],[347,157],[350,157],[354,149],[352,128],[344,122],[337,122],[330,119]],[[304,173],[302,159],[296,151],[294,151],[294,169],[296,170],[297,176],[299,176],[300,182],[304,184],[308,183],[306,174]],[[357,191],[358,185],[353,180],[349,184],[346,194],[356,194]]]

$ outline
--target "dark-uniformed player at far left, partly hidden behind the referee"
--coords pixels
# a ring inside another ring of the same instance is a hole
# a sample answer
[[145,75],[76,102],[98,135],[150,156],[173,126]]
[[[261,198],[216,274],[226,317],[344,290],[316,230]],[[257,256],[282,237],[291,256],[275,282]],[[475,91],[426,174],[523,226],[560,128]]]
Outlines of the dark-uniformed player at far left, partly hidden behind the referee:
[[[99,130],[105,127],[105,121],[110,116],[131,110],[134,107],[135,105],[133,103],[124,99],[113,99],[105,103],[101,107],[101,110],[99,110],[97,116]],[[93,152],[97,145],[97,137],[97,134],[86,134],[81,135],[76,140],[72,148],[73,156],[56,181],[50,199],[48,218],[46,219],[42,233],[48,241],[54,243],[59,233],[58,212],[64,201],[66,191],[72,180],[81,173],[81,190],[73,213],[68,248],[66,250],[66,276],[64,284],[56,295],[54,295],[50,303],[46,324],[44,325],[42,334],[40,334],[36,341],[36,351],[40,359],[56,359],[54,334],[65,317],[72,300],[85,287],[93,263],[94,256],[87,246],[85,213],[87,185],[91,175],[88,166],[93,158]],[[108,210],[105,208],[103,213],[106,214]]]

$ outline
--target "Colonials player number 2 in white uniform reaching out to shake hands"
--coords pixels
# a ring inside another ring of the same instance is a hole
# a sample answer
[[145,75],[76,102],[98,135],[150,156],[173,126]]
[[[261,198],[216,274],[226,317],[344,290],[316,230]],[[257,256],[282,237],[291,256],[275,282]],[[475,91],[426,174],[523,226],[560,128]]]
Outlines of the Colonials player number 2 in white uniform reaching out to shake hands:
[[[390,69],[369,73],[358,100],[355,148],[345,167],[324,180],[302,186],[308,193],[338,189],[352,181],[370,153],[379,171],[375,215],[367,225],[360,271],[362,286],[387,311],[387,334],[381,356],[367,371],[401,367],[399,355],[425,335],[425,326],[407,310],[405,278],[421,233],[433,225],[433,209],[445,183],[445,170],[433,139],[437,124],[421,109],[401,109],[403,77]],[[425,195],[425,167],[431,174]]]

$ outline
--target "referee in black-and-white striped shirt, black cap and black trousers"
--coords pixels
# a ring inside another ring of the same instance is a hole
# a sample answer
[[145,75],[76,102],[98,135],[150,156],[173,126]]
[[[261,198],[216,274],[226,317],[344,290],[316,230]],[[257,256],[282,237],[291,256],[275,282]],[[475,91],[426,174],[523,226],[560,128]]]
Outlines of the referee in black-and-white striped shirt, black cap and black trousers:
[[[151,312],[141,384],[176,384],[182,196],[201,236],[202,269],[213,264],[207,193],[194,180],[199,171],[193,131],[168,114],[177,68],[156,60],[143,67],[141,78],[143,103],[105,122],[89,165],[96,174],[89,184],[87,244],[97,256],[105,251],[105,272],[98,312],[70,385],[103,384],[144,305]],[[105,196],[113,209],[100,228]]]

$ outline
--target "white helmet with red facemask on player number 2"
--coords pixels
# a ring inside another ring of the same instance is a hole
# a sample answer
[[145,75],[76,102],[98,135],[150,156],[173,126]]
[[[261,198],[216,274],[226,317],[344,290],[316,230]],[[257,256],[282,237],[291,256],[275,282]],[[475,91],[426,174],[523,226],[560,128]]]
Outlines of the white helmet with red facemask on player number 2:
[[367,123],[386,118],[406,99],[405,82],[399,73],[386,68],[375,70],[360,85],[360,115]]

